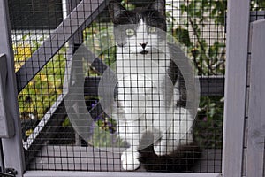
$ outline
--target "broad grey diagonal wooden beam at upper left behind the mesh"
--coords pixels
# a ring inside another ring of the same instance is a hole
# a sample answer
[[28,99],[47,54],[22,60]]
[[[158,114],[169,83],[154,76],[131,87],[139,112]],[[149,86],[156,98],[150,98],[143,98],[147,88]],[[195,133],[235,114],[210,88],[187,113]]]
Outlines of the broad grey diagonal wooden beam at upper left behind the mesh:
[[26,87],[28,81],[34,78],[42,67],[64,46],[64,43],[80,27],[89,25],[96,18],[97,14],[102,12],[108,2],[109,0],[97,0],[96,2],[90,0],[81,1],[16,73],[18,90],[20,91]]

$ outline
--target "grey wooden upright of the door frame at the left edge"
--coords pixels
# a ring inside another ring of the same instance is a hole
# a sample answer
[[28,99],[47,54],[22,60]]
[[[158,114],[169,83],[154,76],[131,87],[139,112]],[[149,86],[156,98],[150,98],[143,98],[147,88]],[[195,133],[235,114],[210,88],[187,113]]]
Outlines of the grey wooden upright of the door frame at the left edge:
[[7,79],[4,102],[7,105],[7,119],[13,120],[15,132],[11,138],[2,139],[2,142],[5,167],[14,168],[18,173],[16,176],[22,177],[25,170],[25,165],[21,141],[21,125],[19,120],[19,104],[17,84],[15,80],[14,58],[11,44],[10,19],[7,4],[7,0],[0,0],[0,53],[4,53],[7,58]]

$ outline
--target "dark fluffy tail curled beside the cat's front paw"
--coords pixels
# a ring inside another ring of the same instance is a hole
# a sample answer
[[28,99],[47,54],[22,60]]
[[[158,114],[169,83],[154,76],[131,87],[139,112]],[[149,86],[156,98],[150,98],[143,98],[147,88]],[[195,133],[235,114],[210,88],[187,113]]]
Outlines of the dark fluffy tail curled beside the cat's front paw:
[[154,146],[140,150],[140,163],[150,172],[193,172],[201,158],[201,148],[196,142],[181,145],[170,155],[157,156]]

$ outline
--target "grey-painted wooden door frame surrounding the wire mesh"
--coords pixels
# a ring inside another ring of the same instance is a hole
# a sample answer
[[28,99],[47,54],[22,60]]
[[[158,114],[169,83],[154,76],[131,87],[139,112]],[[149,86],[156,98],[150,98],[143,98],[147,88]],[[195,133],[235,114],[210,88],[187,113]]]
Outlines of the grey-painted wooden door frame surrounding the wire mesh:
[[[3,139],[4,162],[6,167],[17,170],[18,177],[70,177],[70,176],[174,176],[174,177],[233,177],[242,175],[244,119],[246,112],[246,73],[249,32],[249,0],[228,1],[227,26],[227,60],[225,73],[224,102],[224,139],[223,169],[220,173],[107,173],[107,172],[53,172],[27,171],[24,173],[24,153],[21,145],[19,107],[15,99],[11,101],[12,116],[15,121],[16,135],[11,139]],[[10,24],[7,12],[7,0],[0,0],[0,53],[6,54],[9,71],[14,71],[10,40]],[[4,41],[3,41],[4,40]],[[11,74],[13,97],[17,96],[14,73]],[[24,173],[24,174],[23,174]]]

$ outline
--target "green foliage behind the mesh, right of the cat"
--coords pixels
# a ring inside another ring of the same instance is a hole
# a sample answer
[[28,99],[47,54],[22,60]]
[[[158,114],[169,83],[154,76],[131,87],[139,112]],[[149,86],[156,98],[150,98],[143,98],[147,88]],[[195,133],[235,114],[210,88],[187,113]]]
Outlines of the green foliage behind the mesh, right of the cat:
[[[180,11],[186,18],[180,19],[177,26],[171,26],[170,32],[185,46],[188,57],[193,60],[193,65],[197,69],[197,74],[223,75],[226,1],[187,1],[180,5]],[[212,33],[207,35],[207,32]],[[219,32],[221,36],[215,35],[215,32]],[[194,135],[202,147],[222,148],[223,97],[201,97]]]

